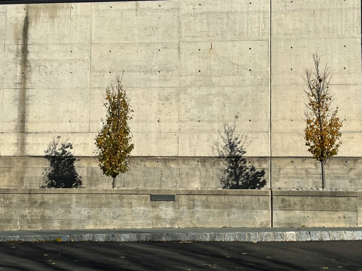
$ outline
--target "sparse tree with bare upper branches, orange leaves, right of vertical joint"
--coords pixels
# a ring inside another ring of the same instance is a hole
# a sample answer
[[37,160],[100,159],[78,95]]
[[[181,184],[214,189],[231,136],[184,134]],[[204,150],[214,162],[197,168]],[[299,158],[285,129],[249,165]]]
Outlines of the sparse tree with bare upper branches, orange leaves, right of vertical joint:
[[339,140],[342,121],[338,118],[338,107],[332,109],[333,95],[329,89],[331,81],[331,68],[320,70],[320,57],[313,54],[314,69],[306,69],[303,90],[308,96],[306,105],[304,139],[308,151],[322,166],[322,188],[325,188],[326,180],[324,165],[327,159],[338,154],[338,148],[342,144]]

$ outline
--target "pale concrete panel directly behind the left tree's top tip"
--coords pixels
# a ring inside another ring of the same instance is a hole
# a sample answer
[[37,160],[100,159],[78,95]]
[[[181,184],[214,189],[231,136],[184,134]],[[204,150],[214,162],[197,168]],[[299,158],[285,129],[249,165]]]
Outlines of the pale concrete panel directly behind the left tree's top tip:
[[124,70],[126,88],[178,87],[178,43],[92,45],[93,88],[106,88]]

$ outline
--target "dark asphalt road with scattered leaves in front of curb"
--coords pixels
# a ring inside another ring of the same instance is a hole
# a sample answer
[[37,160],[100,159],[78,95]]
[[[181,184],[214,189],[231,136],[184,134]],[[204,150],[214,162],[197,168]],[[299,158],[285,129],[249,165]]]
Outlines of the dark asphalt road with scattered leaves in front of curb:
[[[324,268],[324,269],[323,269]],[[362,271],[362,241],[0,243],[0,270]]]

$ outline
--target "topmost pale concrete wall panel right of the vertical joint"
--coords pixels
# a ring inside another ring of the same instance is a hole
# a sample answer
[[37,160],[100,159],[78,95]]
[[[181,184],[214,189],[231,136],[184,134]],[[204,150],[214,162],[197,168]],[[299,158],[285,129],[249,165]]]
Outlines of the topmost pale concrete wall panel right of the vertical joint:
[[271,4],[275,40],[361,37],[358,31],[361,29],[361,3],[357,0],[274,0]]

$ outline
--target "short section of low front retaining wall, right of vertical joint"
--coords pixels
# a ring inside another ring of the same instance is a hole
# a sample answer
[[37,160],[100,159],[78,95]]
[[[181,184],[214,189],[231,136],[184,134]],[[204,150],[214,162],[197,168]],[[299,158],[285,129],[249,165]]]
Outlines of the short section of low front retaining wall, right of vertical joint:
[[273,226],[354,227],[360,225],[360,199],[357,198],[357,192],[298,192],[273,191]]

